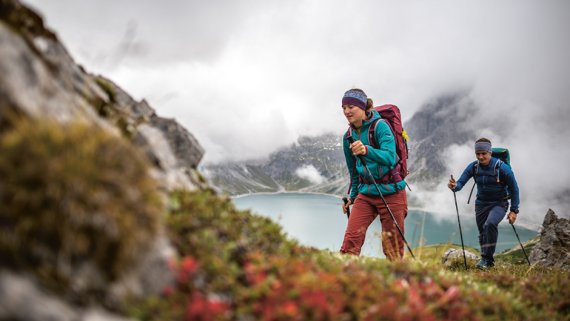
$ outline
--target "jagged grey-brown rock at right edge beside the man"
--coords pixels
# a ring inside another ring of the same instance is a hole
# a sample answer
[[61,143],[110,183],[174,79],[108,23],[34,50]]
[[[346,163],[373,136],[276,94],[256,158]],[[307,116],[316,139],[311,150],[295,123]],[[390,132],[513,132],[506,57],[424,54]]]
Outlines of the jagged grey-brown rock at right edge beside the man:
[[570,270],[570,220],[549,209],[542,223],[540,241],[532,249],[532,264]]

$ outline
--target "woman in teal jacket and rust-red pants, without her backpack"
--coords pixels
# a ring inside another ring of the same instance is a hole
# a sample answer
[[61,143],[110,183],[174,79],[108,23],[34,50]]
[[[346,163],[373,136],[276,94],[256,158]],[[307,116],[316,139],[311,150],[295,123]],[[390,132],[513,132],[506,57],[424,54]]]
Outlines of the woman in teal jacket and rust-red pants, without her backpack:
[[[349,200],[343,205],[343,212],[346,213],[350,205],[352,210],[340,252],[359,255],[366,230],[379,215],[382,224],[382,250],[389,260],[401,259],[404,256],[404,240],[359,158],[364,158],[368,169],[374,175],[374,181],[378,183],[403,234],[404,218],[408,214],[406,182],[403,179],[393,182],[385,177],[397,162],[394,136],[388,124],[381,121],[380,115],[373,109],[372,99],[368,98],[364,91],[351,89],[345,92],[342,110],[350,126],[343,137],[344,155],[350,174]],[[374,135],[370,136],[370,125],[375,122]],[[348,135],[353,138],[353,143],[350,143]],[[376,140],[374,145],[379,148],[371,146],[369,137]]]

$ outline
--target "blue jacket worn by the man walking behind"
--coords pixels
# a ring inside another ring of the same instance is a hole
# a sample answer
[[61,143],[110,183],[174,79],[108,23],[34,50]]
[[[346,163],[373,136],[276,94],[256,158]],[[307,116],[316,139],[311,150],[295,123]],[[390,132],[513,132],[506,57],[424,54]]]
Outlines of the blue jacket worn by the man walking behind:
[[[518,210],[520,198],[515,174],[511,167],[503,161],[497,166],[498,161],[497,158],[492,157],[487,166],[478,164],[477,161],[467,165],[467,168],[465,168],[457,181],[455,191],[460,191],[467,181],[474,177],[477,183],[476,205],[500,202],[510,197],[511,210]],[[497,183],[497,176],[499,177],[499,183]]]

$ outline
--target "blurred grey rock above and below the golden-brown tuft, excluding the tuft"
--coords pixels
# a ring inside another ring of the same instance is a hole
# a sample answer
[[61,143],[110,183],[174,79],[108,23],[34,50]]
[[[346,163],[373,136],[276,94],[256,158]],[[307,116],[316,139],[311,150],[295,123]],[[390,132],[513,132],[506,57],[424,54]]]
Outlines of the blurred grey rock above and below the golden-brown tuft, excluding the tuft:
[[[145,100],[135,101],[111,80],[77,65],[39,14],[17,0],[0,0],[0,134],[14,117],[92,124],[140,147],[163,191],[208,188],[197,170],[204,149],[190,132],[158,116]],[[124,320],[107,309],[126,298],[158,294],[173,281],[168,267],[173,255],[165,233],[159,233],[126,276],[103,286],[107,290],[101,302],[82,306],[49,292],[26,271],[5,268],[0,260],[0,319]],[[74,281],[87,282],[96,274]]]

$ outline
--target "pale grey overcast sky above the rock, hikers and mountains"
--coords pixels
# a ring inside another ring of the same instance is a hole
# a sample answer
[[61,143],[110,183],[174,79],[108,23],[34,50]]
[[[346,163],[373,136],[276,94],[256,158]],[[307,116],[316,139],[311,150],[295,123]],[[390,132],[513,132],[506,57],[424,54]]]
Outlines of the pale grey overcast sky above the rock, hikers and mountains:
[[[352,87],[399,105],[405,119],[467,90],[478,124],[505,119],[507,134],[481,132],[517,153],[526,185],[540,186],[527,195],[568,190],[570,1],[26,3],[88,71],[188,128],[205,162],[340,136],[340,99]],[[452,148],[459,175],[473,155]]]

